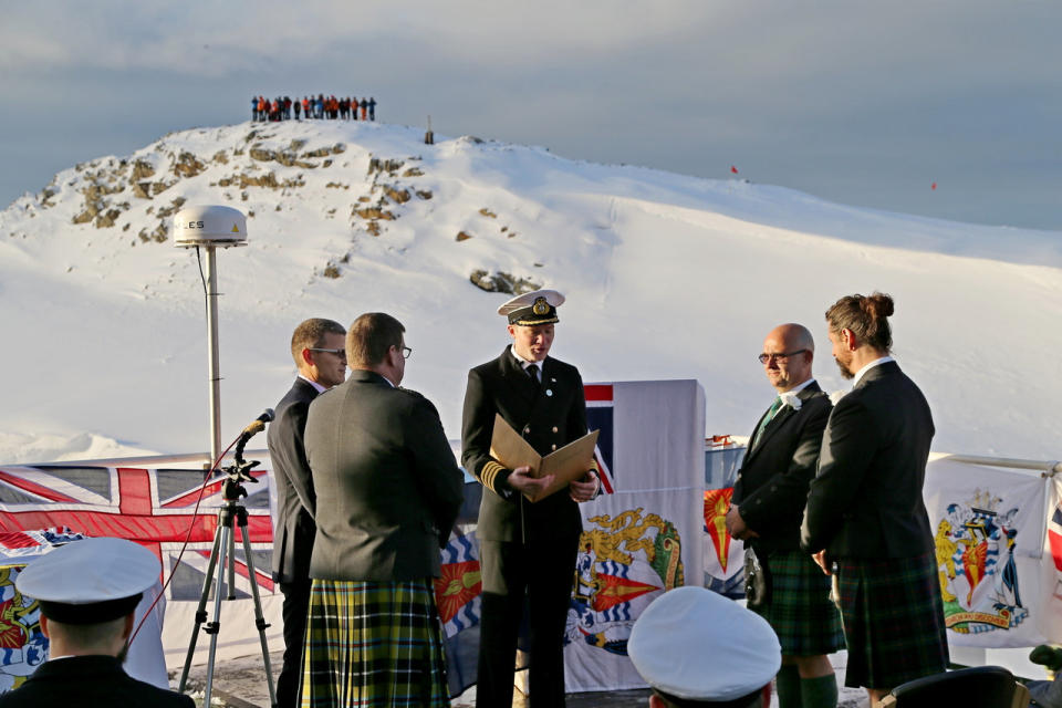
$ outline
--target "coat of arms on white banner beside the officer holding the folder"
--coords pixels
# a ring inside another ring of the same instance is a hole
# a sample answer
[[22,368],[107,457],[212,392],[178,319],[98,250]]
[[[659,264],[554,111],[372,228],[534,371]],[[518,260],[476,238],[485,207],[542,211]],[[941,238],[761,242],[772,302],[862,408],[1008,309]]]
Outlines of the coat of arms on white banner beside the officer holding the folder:
[[685,583],[675,524],[643,509],[587,520],[564,643],[626,656],[634,620],[656,591]]

